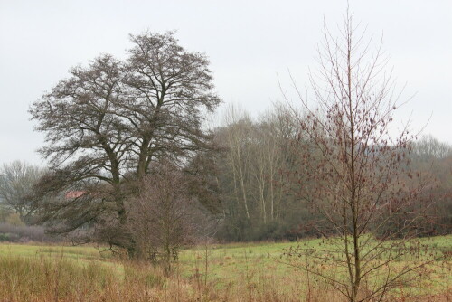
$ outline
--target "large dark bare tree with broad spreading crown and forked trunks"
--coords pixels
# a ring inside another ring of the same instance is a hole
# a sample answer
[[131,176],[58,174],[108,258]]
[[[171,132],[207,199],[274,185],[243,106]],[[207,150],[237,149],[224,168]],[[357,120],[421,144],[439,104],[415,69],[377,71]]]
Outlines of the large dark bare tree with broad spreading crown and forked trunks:
[[[207,176],[199,163],[215,149],[202,124],[221,99],[206,56],[184,50],[173,33],[132,35],[131,42],[126,60],[103,54],[75,67],[31,106],[36,129],[45,135],[40,153],[50,163],[34,199],[52,232],[71,232],[79,241],[122,248],[132,257],[155,257],[153,249],[146,256],[139,250],[144,232],[135,229],[141,228],[136,220],[130,223],[131,216],[142,216],[139,187],[174,185],[159,176],[146,181],[156,164],[165,165],[162,171],[184,170],[191,184],[186,196],[168,198],[188,203],[198,196],[200,211],[215,207],[212,198],[202,198],[215,188],[202,181]],[[192,161],[198,165],[190,170]],[[62,198],[70,191],[83,193]]]

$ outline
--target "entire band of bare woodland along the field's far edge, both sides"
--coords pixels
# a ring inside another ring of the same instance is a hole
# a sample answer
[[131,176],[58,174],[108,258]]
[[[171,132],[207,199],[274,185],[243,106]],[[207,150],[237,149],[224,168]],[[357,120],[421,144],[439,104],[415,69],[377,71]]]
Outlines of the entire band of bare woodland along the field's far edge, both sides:
[[[219,241],[294,241],[320,236],[312,228],[320,215],[298,200],[287,185],[287,175],[297,166],[298,118],[284,105],[275,105],[257,118],[234,107],[225,112],[224,126],[214,129],[220,151],[204,180],[218,185],[219,197],[210,200],[211,236]],[[431,136],[421,137],[413,144],[410,158],[411,168],[433,175],[436,184],[429,192],[435,203],[423,222],[428,231],[424,235],[450,233],[452,146]],[[0,229],[5,230],[0,232],[9,234],[3,235],[8,241],[51,241],[42,228],[24,229],[36,215],[27,196],[33,187],[30,179],[35,177],[35,182],[39,175],[37,167],[25,166],[14,162],[1,169]]]

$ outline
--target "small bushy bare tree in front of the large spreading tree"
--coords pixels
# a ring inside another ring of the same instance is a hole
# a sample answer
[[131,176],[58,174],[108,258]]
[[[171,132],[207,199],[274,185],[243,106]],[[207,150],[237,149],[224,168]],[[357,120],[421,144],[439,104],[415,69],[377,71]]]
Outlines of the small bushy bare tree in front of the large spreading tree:
[[127,227],[142,259],[163,262],[167,272],[178,252],[193,244],[201,212],[189,194],[187,177],[174,165],[155,165],[129,200]]

